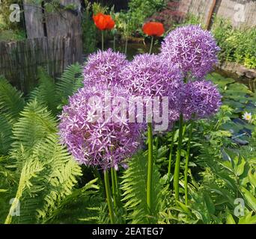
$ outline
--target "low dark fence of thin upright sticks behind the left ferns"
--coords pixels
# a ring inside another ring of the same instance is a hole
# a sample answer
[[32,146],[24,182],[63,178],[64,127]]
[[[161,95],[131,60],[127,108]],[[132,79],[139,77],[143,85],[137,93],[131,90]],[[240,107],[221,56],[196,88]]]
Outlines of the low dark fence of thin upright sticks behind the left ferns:
[[37,84],[37,66],[59,76],[75,62],[82,62],[81,35],[0,42],[0,75],[25,93]]

